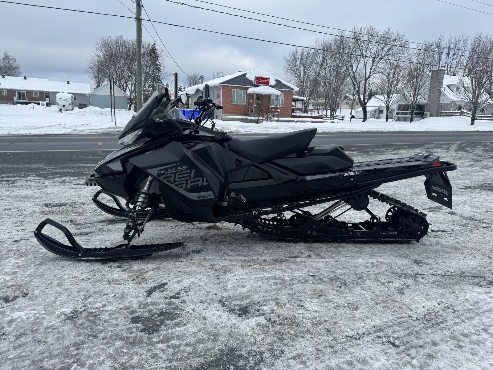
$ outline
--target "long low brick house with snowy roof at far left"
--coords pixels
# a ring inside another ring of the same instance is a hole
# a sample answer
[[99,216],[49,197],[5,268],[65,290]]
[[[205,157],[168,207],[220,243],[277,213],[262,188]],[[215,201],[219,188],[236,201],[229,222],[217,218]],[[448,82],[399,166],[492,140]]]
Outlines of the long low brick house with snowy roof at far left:
[[88,83],[51,81],[44,78],[11,77],[4,74],[0,78],[0,104],[57,104],[59,92],[73,95],[74,107],[86,108],[89,105],[87,93],[91,91]]

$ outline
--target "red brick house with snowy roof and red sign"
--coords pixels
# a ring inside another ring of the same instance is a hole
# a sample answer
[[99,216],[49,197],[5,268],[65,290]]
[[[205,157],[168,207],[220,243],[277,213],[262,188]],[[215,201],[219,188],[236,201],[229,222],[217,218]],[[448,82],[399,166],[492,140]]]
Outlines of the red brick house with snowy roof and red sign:
[[228,116],[258,116],[261,114],[291,117],[293,92],[298,88],[259,68],[238,71],[187,87],[188,106],[204,94],[204,85],[209,85],[214,103],[223,106],[216,111],[215,118]]

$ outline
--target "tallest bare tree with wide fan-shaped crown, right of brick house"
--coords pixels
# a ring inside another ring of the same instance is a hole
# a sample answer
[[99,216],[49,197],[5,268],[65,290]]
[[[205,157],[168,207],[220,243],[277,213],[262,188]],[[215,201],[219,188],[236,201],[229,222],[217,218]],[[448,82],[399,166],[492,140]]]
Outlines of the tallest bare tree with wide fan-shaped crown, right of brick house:
[[366,103],[374,76],[381,72],[382,62],[392,56],[396,47],[407,44],[404,40],[388,42],[388,38],[402,40],[404,37],[405,34],[392,28],[380,30],[373,26],[354,26],[349,34],[341,32],[334,39],[334,50],[338,51],[344,72],[352,83],[363,111],[363,122],[368,119]]

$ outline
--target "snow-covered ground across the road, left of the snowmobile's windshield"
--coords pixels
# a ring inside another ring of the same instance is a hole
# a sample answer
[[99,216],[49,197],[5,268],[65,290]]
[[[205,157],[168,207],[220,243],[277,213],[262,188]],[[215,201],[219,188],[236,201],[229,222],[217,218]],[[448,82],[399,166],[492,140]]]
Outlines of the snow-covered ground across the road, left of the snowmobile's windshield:
[[95,134],[120,132],[134,111],[116,110],[116,126],[111,110],[97,107],[59,112],[56,106],[0,105],[0,134]]

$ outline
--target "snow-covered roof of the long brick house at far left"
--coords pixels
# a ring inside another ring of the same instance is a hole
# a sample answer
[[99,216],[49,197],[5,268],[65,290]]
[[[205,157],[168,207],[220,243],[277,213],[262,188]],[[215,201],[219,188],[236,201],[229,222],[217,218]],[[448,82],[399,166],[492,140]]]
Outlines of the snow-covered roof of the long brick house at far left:
[[45,78],[31,78],[28,77],[11,77],[0,76],[0,88],[12,89],[12,90],[29,90],[29,91],[58,91],[58,92],[70,92],[76,94],[87,94],[91,91],[91,87],[88,83],[70,82],[67,81],[50,81]]

